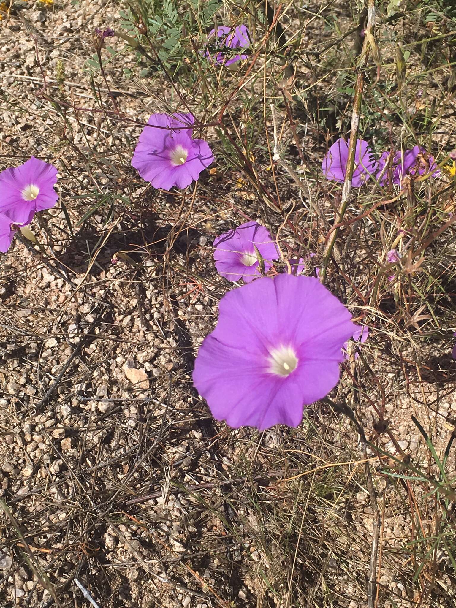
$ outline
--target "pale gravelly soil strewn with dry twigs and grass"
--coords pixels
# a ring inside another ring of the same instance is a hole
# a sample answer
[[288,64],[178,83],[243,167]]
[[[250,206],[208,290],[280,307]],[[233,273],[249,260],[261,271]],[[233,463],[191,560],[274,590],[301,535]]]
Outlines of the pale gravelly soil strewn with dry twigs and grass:
[[[195,349],[227,289],[211,244],[237,223],[238,208],[260,216],[254,190],[238,174],[206,173],[186,198],[157,193],[129,165],[136,125],[113,133],[85,111],[65,122],[40,93],[34,36],[47,92],[57,90],[62,62],[63,96],[93,106],[83,64],[94,27],[115,24],[116,3],[15,7],[0,22],[1,168],[30,154],[54,162],[65,207],[32,225],[45,255],[16,240],[0,262],[0,605],[88,606],[78,579],[103,608],[366,606],[373,509],[351,423],[320,404],[299,429],[230,430],[192,387]],[[122,61],[133,55],[107,69],[112,89],[123,114],[143,122],[171,91],[116,78]],[[95,183],[117,199],[80,223],[98,199],[75,196],[93,195]],[[267,209],[261,215],[277,228]],[[292,243],[292,230],[282,238]],[[332,395],[359,411],[385,455],[379,463],[367,452],[382,515],[378,606],[450,606],[444,551],[418,593],[406,550],[417,528],[435,533],[430,490],[404,482],[401,494],[383,472],[395,465],[389,455],[436,475],[410,414],[443,454],[455,367],[443,334],[421,344],[429,365],[418,367],[410,341],[392,343],[389,331],[374,326],[362,347],[375,370],[365,394],[351,359]],[[447,477],[455,472],[452,451]],[[411,515],[410,504],[420,509]]]

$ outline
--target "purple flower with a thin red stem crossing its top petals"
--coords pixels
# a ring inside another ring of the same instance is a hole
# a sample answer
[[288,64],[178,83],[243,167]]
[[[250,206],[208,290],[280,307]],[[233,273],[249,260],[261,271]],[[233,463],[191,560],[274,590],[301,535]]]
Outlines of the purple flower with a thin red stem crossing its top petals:
[[213,162],[204,139],[193,139],[192,114],[152,114],[139,136],[131,164],[154,188],[185,188]]

